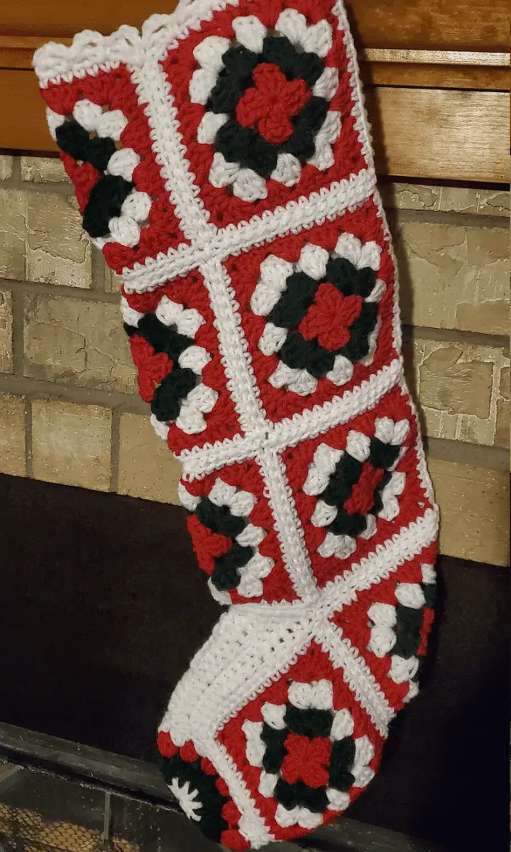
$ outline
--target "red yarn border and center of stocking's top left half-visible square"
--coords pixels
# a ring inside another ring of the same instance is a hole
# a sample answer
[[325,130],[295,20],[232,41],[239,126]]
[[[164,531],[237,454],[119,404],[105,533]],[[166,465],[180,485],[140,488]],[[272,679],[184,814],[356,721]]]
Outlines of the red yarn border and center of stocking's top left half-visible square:
[[[164,187],[155,153],[152,150],[150,128],[143,107],[138,101],[131,75],[124,65],[111,71],[99,71],[85,77],[74,78],[71,83],[50,83],[41,89],[48,107],[60,115],[69,116],[77,101],[87,99],[100,107],[121,110],[128,124],[124,128],[120,141],[123,147],[133,148],[139,154],[141,162],[135,167],[133,181],[135,189],[148,193],[152,198],[148,225],[141,229],[138,245],[128,248],[118,243],[107,243],[103,248],[106,262],[116,272],[123,268],[132,268],[135,263],[143,263],[147,257],[156,257],[159,252],[177,248],[187,243],[175,210],[170,203],[169,193]],[[60,158],[75,185],[80,212],[89,199],[89,194],[100,172],[90,163],[79,164],[69,154],[60,153]]]

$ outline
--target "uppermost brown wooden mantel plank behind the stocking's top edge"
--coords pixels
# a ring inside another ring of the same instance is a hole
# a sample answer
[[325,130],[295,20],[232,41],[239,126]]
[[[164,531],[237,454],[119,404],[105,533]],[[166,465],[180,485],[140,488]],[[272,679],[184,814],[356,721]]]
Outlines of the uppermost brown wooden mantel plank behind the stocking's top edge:
[[[72,36],[83,29],[112,32],[121,24],[141,26],[148,15],[170,12],[175,0],[20,0],[3,3],[0,32],[4,35]],[[507,0],[348,0],[348,15],[360,45],[412,48],[506,51]]]

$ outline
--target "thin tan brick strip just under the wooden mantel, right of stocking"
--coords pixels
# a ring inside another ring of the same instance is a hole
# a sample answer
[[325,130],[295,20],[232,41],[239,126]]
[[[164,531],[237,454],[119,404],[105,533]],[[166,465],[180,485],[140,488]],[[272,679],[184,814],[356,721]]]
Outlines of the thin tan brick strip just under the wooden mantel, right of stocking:
[[398,210],[430,210],[509,216],[509,193],[473,187],[432,187],[425,184],[382,182],[382,201]]

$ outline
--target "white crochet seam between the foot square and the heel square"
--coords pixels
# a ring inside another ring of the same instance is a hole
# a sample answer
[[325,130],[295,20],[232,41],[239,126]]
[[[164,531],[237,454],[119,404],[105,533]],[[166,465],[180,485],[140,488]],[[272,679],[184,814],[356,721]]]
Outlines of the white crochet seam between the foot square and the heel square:
[[315,637],[328,653],[333,665],[342,669],[343,679],[380,734],[387,736],[389,722],[395,714],[365,659],[356,653],[351,642],[342,636],[342,630],[327,619],[319,622]]

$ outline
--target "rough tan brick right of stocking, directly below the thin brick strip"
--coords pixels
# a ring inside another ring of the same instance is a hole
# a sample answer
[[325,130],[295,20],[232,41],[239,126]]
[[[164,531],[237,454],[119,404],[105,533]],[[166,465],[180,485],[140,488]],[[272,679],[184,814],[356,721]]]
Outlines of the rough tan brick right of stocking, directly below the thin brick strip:
[[508,334],[507,230],[398,221],[393,231],[405,323]]

